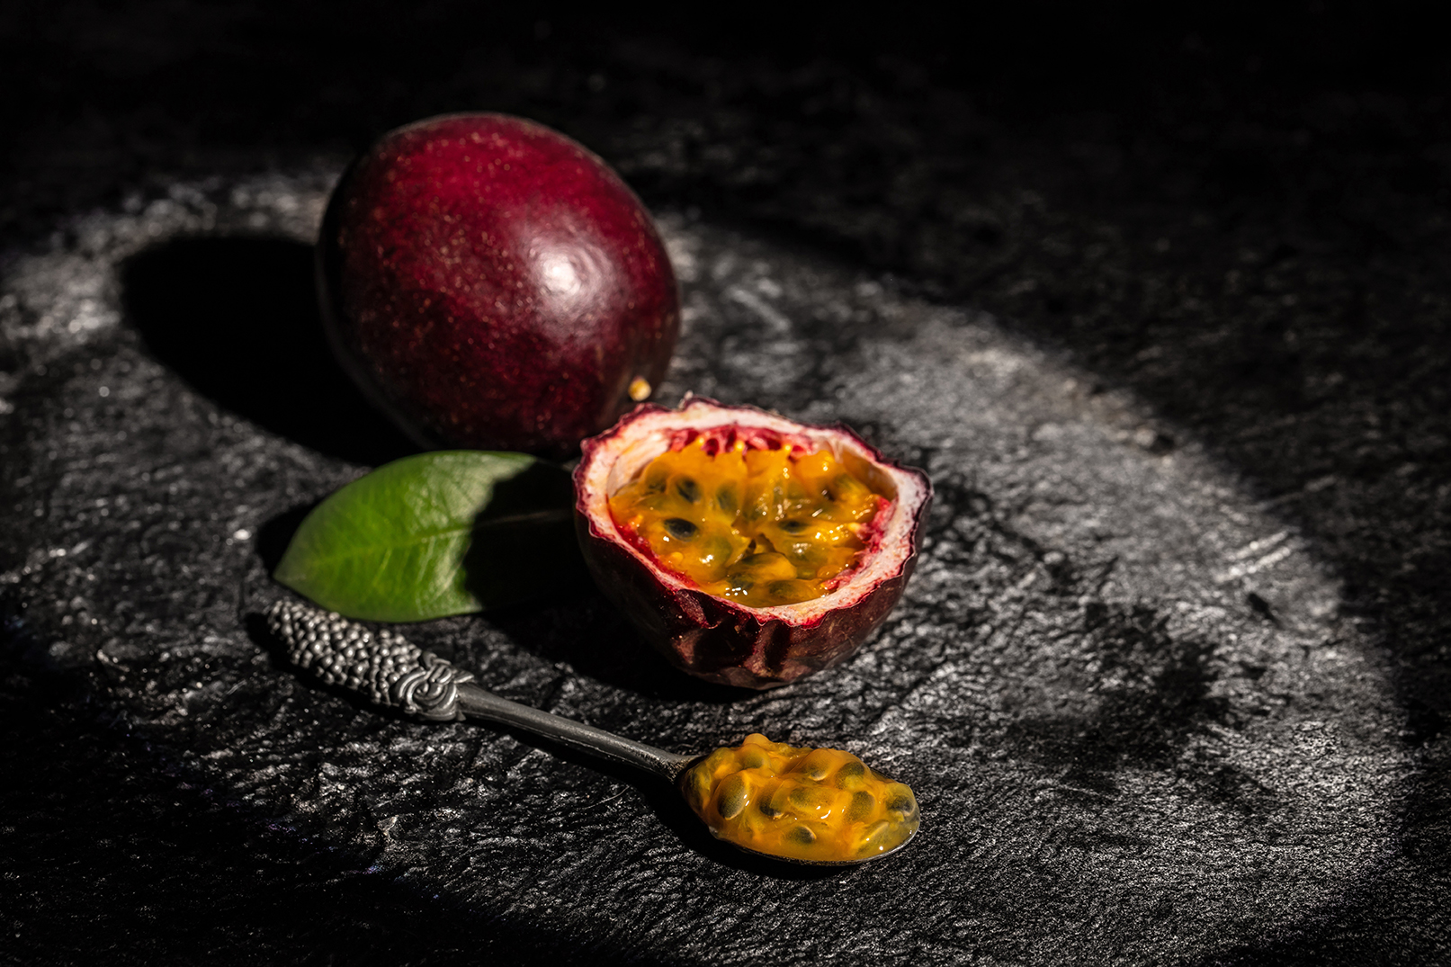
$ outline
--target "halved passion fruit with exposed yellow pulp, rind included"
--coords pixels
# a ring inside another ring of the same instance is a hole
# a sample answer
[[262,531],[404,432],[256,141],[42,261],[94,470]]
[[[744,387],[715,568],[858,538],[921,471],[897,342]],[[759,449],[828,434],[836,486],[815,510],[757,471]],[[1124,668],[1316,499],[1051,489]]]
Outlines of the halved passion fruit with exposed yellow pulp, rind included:
[[930,497],[844,427],[704,398],[637,407],[575,469],[605,594],[681,669],[749,688],[856,650],[907,585]]

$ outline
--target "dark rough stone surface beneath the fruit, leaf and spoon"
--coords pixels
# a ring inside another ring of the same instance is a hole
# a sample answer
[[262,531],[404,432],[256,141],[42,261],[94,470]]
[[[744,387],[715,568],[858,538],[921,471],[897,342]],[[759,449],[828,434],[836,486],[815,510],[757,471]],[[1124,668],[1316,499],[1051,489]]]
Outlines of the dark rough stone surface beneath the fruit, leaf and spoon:
[[[1162,28],[1161,83],[1013,90],[892,32],[533,23],[389,71],[252,6],[16,10],[9,62],[71,73],[6,109],[10,960],[1451,955],[1444,77],[1344,70],[1333,30],[1258,74]],[[843,420],[939,498],[882,633],[778,693],[676,675],[588,591],[408,636],[666,748],[858,752],[918,793],[900,860],[743,860],[669,790],[268,642],[289,529],[406,452],[326,357],[306,242],[350,147],[453,107],[560,125],[656,206],[667,398]]]

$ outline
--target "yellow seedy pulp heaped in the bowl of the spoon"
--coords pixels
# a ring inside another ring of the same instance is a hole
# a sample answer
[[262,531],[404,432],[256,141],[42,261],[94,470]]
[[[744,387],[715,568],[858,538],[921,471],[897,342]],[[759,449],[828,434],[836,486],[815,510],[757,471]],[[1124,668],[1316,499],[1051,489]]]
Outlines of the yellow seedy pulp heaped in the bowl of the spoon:
[[798,749],[760,733],[685,774],[691,807],[717,838],[789,860],[858,861],[917,832],[917,799],[850,752]]

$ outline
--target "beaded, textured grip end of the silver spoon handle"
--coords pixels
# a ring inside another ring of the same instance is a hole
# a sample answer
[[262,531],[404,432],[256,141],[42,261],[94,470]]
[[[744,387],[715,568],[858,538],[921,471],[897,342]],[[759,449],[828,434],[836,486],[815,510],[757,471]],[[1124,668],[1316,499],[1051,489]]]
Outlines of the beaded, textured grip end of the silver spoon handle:
[[454,668],[387,629],[370,632],[332,611],[299,601],[267,608],[267,629],[287,646],[287,658],[329,685],[351,688],[374,704],[402,709],[429,722],[463,719],[459,685],[473,674]]

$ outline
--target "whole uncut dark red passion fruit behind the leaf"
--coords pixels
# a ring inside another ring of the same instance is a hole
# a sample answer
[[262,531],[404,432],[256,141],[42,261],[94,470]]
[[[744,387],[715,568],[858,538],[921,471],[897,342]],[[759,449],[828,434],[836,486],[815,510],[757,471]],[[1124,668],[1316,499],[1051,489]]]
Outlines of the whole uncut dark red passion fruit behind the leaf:
[[679,289],[649,212],[598,157],[505,115],[383,135],[318,241],[344,369],[418,443],[563,457],[670,362]]

